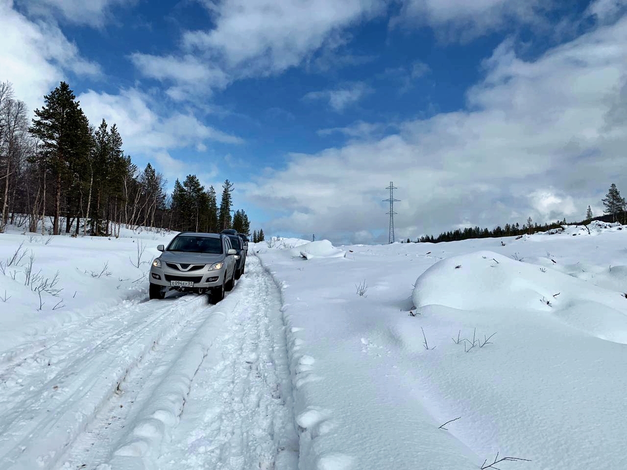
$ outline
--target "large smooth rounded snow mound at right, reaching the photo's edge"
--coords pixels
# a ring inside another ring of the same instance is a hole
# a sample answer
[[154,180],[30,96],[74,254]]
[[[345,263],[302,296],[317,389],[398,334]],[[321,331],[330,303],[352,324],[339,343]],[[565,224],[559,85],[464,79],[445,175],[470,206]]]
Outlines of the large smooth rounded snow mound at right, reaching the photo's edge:
[[418,308],[544,312],[596,337],[627,343],[621,292],[491,251],[439,261],[416,279],[412,298]]

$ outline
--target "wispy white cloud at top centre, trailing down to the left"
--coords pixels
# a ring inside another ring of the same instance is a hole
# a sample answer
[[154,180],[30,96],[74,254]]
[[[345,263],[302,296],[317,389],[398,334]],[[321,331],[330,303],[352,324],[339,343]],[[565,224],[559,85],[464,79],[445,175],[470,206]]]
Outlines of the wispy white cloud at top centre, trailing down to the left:
[[171,83],[167,93],[175,100],[209,95],[241,78],[275,75],[312,58],[319,66],[372,60],[335,50],[350,40],[345,28],[387,9],[385,0],[200,1],[214,23],[186,31],[179,55],[131,56],[145,76]]

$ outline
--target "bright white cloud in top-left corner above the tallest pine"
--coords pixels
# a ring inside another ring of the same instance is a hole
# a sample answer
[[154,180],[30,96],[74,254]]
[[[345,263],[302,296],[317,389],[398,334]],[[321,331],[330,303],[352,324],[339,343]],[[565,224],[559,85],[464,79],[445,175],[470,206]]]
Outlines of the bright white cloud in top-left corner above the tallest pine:
[[0,31],[0,80],[11,81],[16,97],[29,108],[40,107],[43,95],[68,72],[100,74],[100,67],[85,60],[57,26],[30,21],[11,0],[0,0]]

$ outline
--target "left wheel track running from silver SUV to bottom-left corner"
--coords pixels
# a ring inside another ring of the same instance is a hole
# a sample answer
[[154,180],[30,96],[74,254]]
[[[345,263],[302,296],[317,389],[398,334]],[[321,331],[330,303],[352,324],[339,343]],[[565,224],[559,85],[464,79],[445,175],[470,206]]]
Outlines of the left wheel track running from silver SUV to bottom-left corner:
[[123,304],[111,309],[109,321],[102,316],[104,321],[82,325],[80,338],[58,341],[58,350],[50,352],[59,354],[53,372],[29,377],[13,407],[0,414],[0,461],[9,469],[53,466],[151,348],[176,335],[186,317],[204,306],[204,296]]

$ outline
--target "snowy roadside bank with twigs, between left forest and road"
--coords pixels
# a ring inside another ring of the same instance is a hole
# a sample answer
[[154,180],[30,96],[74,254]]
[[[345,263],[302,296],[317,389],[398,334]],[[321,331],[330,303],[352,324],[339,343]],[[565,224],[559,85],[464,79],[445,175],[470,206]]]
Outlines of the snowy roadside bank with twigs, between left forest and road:
[[21,342],[147,295],[157,244],[176,233],[127,238],[0,234],[0,363]]

